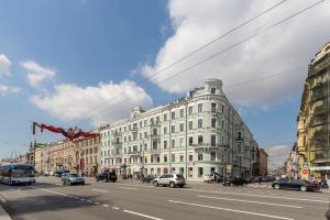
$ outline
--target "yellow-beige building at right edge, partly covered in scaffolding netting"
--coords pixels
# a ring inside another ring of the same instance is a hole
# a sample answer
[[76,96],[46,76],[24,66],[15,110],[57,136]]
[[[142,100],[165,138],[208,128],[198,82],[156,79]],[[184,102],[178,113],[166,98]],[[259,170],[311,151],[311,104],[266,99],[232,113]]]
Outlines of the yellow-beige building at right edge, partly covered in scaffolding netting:
[[330,173],[329,72],[330,42],[321,47],[308,66],[297,118],[300,168],[302,164],[311,167],[309,174],[301,174],[305,179]]

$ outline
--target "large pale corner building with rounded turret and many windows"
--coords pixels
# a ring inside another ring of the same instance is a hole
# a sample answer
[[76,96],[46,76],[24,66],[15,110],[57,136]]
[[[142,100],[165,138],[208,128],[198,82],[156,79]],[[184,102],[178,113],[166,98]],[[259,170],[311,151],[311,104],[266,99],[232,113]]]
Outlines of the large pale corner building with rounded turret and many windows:
[[201,178],[252,175],[257,143],[222,91],[209,79],[174,103],[133,109],[130,118],[100,128],[100,166],[118,173],[184,174]]

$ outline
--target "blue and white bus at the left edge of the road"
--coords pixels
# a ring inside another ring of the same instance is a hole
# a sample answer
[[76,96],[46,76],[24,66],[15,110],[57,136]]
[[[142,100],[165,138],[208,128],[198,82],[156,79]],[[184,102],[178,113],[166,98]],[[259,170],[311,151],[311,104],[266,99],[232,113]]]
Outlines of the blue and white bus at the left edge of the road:
[[31,164],[8,164],[0,166],[0,184],[31,185],[35,183],[35,170]]

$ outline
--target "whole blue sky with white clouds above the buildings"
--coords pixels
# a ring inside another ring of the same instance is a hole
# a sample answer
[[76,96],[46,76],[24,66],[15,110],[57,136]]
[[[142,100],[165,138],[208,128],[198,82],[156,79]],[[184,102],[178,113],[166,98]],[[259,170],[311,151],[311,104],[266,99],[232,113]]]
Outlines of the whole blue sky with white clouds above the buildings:
[[278,2],[0,0],[0,158],[62,139],[33,136],[31,121],[90,130],[219,78],[270,166],[282,165],[308,64],[330,41],[330,3],[273,26],[318,2],[283,1],[223,36]]

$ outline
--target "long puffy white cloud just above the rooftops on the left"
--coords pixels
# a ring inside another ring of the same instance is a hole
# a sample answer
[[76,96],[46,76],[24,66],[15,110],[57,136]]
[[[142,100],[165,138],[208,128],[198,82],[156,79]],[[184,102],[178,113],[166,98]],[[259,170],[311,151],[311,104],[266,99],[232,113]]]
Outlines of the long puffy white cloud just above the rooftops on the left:
[[[129,80],[86,88],[62,84],[55,86],[53,95],[33,96],[30,101],[64,122],[88,119],[94,125],[113,122],[129,116],[135,106],[150,107],[152,105],[152,98],[143,88]],[[91,108],[98,106],[100,108],[84,116]]]

